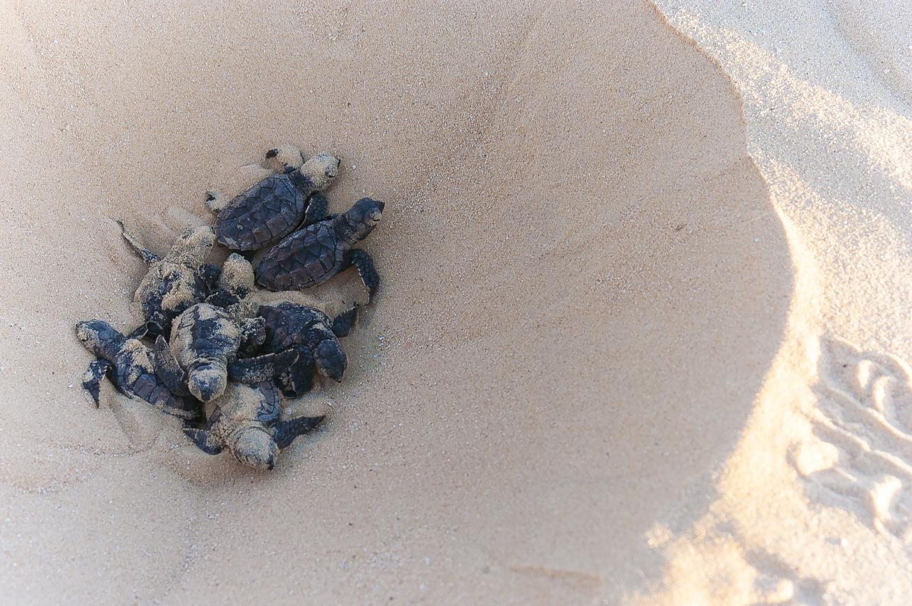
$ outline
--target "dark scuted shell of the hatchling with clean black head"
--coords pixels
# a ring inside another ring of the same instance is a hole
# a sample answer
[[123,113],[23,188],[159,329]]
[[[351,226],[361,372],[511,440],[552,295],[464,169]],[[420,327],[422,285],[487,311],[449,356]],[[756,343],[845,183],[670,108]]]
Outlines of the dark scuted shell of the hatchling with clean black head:
[[316,223],[281,241],[257,266],[257,282],[275,291],[300,290],[334,276],[345,252],[330,226]]

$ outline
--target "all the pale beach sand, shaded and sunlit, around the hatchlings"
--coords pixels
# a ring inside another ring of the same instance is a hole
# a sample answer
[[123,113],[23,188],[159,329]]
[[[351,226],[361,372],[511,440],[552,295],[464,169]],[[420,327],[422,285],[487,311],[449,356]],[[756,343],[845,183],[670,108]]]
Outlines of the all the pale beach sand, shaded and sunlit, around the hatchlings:
[[[0,601],[903,603],[910,9],[93,4],[0,2]],[[382,284],[258,473],[73,329],[283,143]]]

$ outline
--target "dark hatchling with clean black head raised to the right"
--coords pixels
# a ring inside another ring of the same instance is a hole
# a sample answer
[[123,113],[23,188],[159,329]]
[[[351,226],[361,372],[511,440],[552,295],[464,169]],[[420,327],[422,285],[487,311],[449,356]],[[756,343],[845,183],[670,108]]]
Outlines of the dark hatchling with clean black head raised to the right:
[[256,268],[256,282],[271,291],[303,290],[354,265],[373,296],[379,282],[374,262],[367,252],[352,247],[373,231],[383,207],[383,202],[362,198],[340,215],[295,231],[265,254]]

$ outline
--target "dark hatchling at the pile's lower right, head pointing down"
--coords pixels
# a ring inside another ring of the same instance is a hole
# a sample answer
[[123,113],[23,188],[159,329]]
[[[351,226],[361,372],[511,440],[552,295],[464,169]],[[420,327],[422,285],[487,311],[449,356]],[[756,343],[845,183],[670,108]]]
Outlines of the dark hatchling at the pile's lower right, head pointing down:
[[276,376],[276,383],[289,397],[303,395],[314,380],[314,369],[320,375],[341,381],[347,358],[337,337],[351,331],[358,315],[358,305],[330,320],[314,307],[283,301],[265,303],[257,308],[265,320],[264,352],[297,352],[297,361],[287,372]]

